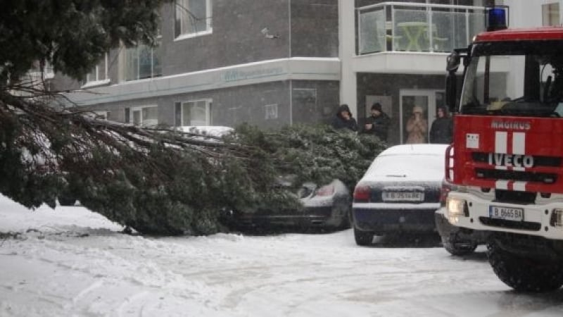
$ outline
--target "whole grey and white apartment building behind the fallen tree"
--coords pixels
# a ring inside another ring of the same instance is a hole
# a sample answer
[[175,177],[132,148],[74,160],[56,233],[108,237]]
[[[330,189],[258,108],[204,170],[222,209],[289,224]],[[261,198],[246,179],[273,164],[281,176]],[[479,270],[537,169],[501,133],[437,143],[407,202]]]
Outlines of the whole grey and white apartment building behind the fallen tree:
[[446,56],[484,30],[494,2],[177,0],[162,8],[158,47],[110,51],[86,82],[55,82],[139,125],[327,123],[343,103],[362,125],[377,101],[398,144],[414,106],[434,120]]

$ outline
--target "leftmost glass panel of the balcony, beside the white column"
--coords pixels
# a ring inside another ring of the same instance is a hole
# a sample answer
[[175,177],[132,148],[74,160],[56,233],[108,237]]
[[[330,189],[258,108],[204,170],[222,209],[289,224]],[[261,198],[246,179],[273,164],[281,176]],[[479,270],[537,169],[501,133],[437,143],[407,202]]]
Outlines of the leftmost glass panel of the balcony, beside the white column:
[[386,51],[385,11],[360,13],[360,54]]

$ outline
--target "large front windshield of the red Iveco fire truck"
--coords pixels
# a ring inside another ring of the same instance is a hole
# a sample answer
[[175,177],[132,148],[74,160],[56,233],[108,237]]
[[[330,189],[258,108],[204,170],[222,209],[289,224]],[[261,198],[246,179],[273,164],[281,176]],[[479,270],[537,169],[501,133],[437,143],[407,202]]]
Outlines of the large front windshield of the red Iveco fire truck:
[[460,113],[563,117],[563,43],[474,44]]

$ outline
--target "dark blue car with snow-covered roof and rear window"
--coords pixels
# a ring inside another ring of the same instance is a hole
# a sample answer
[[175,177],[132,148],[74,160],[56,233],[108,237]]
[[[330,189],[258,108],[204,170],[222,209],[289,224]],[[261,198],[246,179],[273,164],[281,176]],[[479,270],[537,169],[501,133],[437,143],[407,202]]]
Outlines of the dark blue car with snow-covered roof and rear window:
[[446,144],[403,144],[374,159],[356,185],[352,220],[356,244],[374,235],[434,232],[440,208]]

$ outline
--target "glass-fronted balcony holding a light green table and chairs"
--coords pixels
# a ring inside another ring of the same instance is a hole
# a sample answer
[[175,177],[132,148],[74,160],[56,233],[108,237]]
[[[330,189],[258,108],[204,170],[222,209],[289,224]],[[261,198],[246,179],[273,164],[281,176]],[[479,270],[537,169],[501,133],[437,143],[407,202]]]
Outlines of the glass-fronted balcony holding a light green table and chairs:
[[466,47],[485,30],[485,8],[384,2],[356,8],[356,54],[446,53]]

